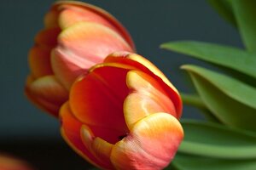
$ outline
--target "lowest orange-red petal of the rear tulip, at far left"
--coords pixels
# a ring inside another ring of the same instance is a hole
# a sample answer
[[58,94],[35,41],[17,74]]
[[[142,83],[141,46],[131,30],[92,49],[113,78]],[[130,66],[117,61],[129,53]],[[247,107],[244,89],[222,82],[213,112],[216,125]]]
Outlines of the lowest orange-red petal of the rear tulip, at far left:
[[56,81],[54,76],[41,77],[35,81],[28,80],[25,91],[32,102],[54,116],[58,116],[59,108],[68,99],[67,90]]

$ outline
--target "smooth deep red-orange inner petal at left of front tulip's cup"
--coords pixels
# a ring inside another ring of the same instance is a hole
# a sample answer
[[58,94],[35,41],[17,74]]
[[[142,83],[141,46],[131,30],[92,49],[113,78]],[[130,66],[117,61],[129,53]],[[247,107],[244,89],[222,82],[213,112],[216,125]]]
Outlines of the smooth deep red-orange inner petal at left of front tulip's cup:
[[127,71],[112,66],[96,68],[79,78],[70,92],[74,115],[91,128],[108,129],[107,139],[97,136],[112,144],[128,132],[123,115],[123,103],[129,94],[125,83]]

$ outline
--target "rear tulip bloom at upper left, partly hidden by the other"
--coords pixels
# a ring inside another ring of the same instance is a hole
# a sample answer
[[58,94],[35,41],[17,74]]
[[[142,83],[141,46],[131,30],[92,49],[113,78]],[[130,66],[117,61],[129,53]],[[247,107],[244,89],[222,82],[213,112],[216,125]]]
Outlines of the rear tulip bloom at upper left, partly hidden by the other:
[[87,3],[55,3],[44,26],[29,53],[31,74],[25,91],[35,105],[53,116],[58,116],[81,72],[114,51],[134,51],[131,37],[119,21]]

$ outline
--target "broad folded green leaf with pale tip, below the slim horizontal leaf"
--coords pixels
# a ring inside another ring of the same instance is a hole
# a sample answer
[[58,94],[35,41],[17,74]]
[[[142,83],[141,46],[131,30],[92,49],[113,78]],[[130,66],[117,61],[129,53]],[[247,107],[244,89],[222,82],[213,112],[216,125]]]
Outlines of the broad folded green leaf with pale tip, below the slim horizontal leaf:
[[201,99],[224,124],[256,130],[256,89],[232,77],[195,65],[183,65]]

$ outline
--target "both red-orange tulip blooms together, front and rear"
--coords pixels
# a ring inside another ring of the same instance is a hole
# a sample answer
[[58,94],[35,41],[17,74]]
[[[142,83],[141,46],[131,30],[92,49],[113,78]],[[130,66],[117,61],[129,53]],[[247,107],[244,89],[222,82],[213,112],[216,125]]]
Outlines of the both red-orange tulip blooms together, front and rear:
[[55,3],[45,23],[30,53],[27,96],[60,112],[64,139],[97,167],[166,167],[183,139],[182,102],[172,83],[132,53],[129,34],[102,9]]

